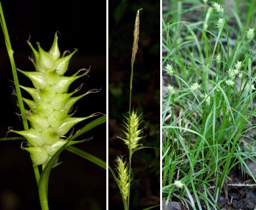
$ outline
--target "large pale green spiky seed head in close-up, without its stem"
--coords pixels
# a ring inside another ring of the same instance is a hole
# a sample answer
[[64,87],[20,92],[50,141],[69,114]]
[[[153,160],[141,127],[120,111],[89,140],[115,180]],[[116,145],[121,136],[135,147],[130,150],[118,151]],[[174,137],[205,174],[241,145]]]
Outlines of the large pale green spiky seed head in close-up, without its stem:
[[[65,51],[61,55],[58,49],[57,33],[54,35],[53,45],[48,52],[44,51],[39,43],[37,43],[38,51],[35,50],[30,41],[28,41],[28,45],[33,51],[33,58],[30,60],[36,71],[18,70],[18,72],[26,75],[33,84],[33,87],[20,85],[24,91],[32,96],[32,99],[22,98],[28,105],[28,110],[22,115],[30,122],[30,129],[25,131],[10,129],[10,131],[27,139],[28,147],[24,147],[22,144],[21,148],[30,152],[35,165],[45,167],[55,152],[67,142],[66,134],[70,129],[75,124],[97,115],[73,117],[73,114],[70,114],[70,110],[77,100],[89,93],[95,93],[97,90],[88,91],[80,96],[73,96],[81,89],[78,87],[68,93],[70,85],[76,79],[87,75],[89,70],[79,70],[72,76],[64,75],[68,70],[70,58],[77,52],[77,49],[70,54]],[[70,141],[68,146],[82,141]]]

